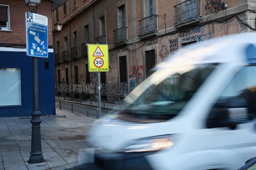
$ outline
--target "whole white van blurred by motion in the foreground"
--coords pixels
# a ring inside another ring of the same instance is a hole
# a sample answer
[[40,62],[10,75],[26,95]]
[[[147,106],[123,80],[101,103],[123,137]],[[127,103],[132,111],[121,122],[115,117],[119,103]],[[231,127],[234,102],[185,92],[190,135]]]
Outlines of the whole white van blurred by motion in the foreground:
[[124,102],[92,127],[86,160],[95,169],[242,167],[256,156],[256,33],[188,45]]

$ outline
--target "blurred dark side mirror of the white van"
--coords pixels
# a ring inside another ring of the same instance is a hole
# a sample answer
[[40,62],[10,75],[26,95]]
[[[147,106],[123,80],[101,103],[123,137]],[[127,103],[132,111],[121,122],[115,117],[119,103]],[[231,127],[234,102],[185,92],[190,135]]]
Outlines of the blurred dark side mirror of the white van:
[[213,106],[207,128],[229,127],[235,129],[236,125],[249,120],[247,102],[241,97],[220,98]]

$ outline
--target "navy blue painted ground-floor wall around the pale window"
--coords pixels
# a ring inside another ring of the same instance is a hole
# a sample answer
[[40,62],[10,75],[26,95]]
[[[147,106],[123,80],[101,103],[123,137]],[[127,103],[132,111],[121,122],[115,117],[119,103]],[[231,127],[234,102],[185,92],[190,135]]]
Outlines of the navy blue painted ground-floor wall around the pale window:
[[[55,115],[54,57],[49,52],[49,69],[45,69],[45,58],[38,58],[39,106],[41,116]],[[0,117],[31,116],[33,111],[32,58],[26,52],[0,51],[1,68],[20,68],[21,106],[0,106]],[[0,83],[4,83],[1,82]]]

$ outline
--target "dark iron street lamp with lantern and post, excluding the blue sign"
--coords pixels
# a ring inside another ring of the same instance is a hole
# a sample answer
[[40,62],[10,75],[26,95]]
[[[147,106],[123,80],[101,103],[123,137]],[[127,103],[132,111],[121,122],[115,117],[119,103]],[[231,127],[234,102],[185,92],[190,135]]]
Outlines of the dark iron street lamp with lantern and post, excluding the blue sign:
[[[26,6],[32,13],[36,13],[37,6],[41,4],[41,0],[24,0]],[[32,10],[31,10],[31,8]],[[35,7],[35,8],[34,8]],[[48,48],[48,47],[47,47]],[[38,84],[38,60],[33,57],[33,112],[31,112],[32,119],[32,135],[31,135],[31,152],[29,157],[30,163],[43,162],[42,145],[41,145],[41,130],[40,119],[41,112],[39,111],[39,84]]]

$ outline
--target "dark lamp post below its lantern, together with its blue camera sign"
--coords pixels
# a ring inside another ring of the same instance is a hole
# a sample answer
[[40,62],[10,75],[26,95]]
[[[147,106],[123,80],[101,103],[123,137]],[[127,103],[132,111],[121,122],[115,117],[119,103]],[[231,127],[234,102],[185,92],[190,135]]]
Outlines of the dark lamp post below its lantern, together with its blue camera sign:
[[39,77],[37,57],[48,58],[48,19],[36,13],[26,12],[27,55],[33,57],[33,112],[30,163],[43,162],[39,111]]

